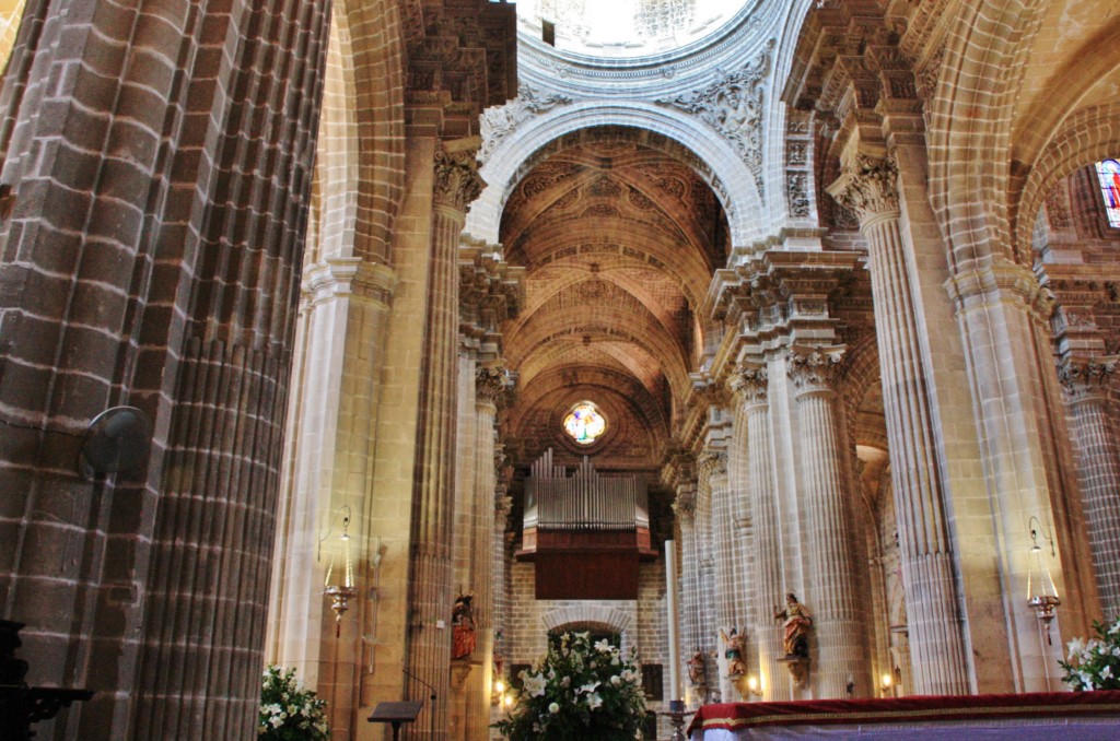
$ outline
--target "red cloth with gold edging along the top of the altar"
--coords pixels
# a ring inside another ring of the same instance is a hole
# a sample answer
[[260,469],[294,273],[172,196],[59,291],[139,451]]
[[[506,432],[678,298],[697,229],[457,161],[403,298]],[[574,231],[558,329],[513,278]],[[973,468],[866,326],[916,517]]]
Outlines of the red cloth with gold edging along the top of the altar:
[[689,725],[689,735],[691,738],[694,731],[710,729],[738,731],[771,725],[924,723],[1094,715],[1120,717],[1120,691],[915,695],[875,700],[799,700],[703,705]]

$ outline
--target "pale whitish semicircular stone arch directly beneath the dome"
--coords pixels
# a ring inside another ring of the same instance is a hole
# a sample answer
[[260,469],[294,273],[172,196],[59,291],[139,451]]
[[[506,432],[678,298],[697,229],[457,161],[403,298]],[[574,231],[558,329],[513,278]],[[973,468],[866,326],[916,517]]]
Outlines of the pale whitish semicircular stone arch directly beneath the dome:
[[[747,244],[758,233],[762,198],[750,169],[727,140],[684,113],[652,103],[619,105],[610,101],[560,106],[507,134],[479,170],[487,187],[470,208],[466,233],[497,243],[502,209],[521,176],[566,146],[567,134],[608,125],[633,130],[642,143],[696,170],[727,214],[732,246]],[[532,153],[526,157],[526,151]]]

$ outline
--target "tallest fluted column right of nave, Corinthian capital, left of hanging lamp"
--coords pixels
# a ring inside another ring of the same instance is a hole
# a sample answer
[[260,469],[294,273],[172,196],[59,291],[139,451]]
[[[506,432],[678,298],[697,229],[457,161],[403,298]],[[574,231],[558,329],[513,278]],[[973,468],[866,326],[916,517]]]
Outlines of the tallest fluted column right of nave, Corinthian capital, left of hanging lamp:
[[855,154],[829,193],[860,217],[869,245],[875,327],[889,438],[916,694],[965,694],[968,664],[935,450],[932,396],[899,228],[897,166]]

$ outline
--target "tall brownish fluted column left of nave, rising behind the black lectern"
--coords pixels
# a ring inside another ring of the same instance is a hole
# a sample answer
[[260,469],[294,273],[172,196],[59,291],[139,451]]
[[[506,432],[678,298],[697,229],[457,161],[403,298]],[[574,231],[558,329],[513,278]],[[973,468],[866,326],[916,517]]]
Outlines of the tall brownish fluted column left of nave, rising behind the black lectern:
[[[428,307],[424,316],[404,670],[409,698],[426,700],[410,739],[446,739],[451,616],[456,383],[459,328],[457,248],[465,209],[482,190],[475,140],[442,142],[435,156]],[[411,676],[409,676],[411,675]],[[433,703],[427,698],[435,694]]]

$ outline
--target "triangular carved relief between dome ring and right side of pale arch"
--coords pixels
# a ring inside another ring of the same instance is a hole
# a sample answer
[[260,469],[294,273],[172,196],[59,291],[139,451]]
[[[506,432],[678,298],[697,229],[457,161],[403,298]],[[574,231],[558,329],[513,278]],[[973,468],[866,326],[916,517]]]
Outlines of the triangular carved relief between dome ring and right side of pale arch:
[[763,194],[763,105],[773,46],[771,40],[753,62],[736,72],[720,71],[716,82],[703,90],[656,101],[659,105],[699,116],[730,141],[750,168],[759,195]]

